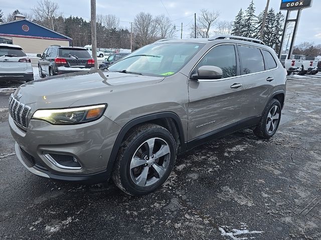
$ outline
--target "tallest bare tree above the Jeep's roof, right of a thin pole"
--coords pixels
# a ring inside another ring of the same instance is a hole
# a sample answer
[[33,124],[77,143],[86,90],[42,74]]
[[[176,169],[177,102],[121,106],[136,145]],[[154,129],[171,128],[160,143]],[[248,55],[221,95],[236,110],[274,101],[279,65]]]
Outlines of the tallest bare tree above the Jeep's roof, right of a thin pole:
[[[209,11],[208,9],[201,9],[201,13],[197,17],[196,22],[196,37],[208,38],[210,36],[210,31],[212,27],[217,22],[220,16],[218,11]],[[190,27],[191,36],[195,34],[195,23]]]

